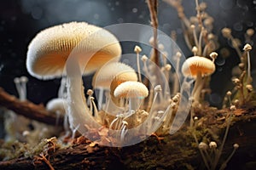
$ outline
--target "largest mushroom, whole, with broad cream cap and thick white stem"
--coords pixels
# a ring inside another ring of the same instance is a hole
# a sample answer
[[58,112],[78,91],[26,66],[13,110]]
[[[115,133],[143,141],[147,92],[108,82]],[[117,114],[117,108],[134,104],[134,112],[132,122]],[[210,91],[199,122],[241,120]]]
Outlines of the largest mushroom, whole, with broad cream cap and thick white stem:
[[119,42],[109,31],[85,22],[70,22],[49,27],[34,37],[28,47],[26,67],[39,79],[67,74],[70,127],[84,133],[84,125],[96,122],[84,103],[81,77],[96,71],[110,59],[119,60],[120,54]]

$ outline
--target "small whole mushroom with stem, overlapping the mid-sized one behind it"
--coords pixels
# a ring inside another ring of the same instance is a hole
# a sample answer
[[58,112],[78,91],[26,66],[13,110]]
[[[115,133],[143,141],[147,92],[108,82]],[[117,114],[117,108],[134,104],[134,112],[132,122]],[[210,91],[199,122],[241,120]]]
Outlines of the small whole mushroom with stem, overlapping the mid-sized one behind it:
[[142,82],[127,81],[115,88],[113,95],[119,99],[129,99],[131,113],[131,111],[137,111],[139,100],[148,96],[148,88]]

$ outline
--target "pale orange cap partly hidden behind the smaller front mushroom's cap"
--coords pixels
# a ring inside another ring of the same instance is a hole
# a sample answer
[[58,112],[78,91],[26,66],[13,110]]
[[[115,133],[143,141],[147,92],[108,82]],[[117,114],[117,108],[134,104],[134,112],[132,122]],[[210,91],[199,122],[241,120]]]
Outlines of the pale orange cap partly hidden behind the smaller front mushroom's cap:
[[110,88],[114,77],[119,77],[119,79],[130,77],[129,80],[137,81],[137,73],[131,66],[120,62],[111,62],[96,71],[92,79],[92,86],[94,88]]

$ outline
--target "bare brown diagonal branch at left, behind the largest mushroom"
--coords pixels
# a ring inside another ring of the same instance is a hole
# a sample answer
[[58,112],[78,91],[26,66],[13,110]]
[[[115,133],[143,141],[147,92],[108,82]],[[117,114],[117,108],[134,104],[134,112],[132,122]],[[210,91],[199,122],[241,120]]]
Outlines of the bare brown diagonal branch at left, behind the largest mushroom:
[[[15,96],[8,94],[0,88],[0,105],[15,111],[16,114],[26,116],[29,119],[38,122],[44,122],[49,125],[55,125],[55,113],[46,111],[43,105],[35,105],[31,101],[20,101]],[[63,117],[60,117],[59,125],[63,124]]]

